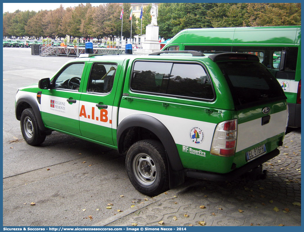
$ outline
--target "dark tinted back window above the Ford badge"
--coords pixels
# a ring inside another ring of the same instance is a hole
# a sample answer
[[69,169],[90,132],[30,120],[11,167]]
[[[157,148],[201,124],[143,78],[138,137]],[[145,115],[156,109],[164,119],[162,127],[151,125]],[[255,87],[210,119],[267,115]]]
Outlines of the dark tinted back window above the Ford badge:
[[218,62],[237,109],[251,107],[270,101],[286,99],[275,77],[258,62]]

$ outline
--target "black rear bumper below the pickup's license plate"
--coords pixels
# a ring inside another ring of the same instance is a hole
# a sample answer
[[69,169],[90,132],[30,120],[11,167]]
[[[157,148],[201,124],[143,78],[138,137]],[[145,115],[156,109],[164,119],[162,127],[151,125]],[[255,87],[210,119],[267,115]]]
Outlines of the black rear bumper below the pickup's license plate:
[[186,170],[185,175],[196,179],[204,179],[204,180],[212,180],[212,181],[226,181],[226,180],[231,181],[237,179],[239,176],[245,174],[246,172],[249,172],[251,169],[254,169],[258,165],[261,165],[262,163],[274,158],[278,154],[280,154],[280,151],[278,149],[275,149],[272,152],[269,152],[257,159],[248,162],[246,165],[240,168],[234,169],[233,171],[224,174]]

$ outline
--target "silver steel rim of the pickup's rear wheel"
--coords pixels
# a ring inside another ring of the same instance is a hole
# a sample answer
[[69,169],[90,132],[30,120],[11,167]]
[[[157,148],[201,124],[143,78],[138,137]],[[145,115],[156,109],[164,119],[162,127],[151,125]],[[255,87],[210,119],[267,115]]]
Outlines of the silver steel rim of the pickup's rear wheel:
[[143,185],[151,185],[156,180],[156,165],[153,159],[145,153],[139,153],[133,159],[133,172],[136,179]]

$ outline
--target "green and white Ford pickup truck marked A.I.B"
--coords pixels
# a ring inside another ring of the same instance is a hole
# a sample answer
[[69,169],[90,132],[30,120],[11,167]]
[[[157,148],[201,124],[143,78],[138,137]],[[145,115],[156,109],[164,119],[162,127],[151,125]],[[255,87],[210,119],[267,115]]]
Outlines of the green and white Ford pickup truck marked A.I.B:
[[279,154],[287,117],[278,81],[245,53],[85,54],[16,94],[29,145],[60,131],[116,149],[126,154],[130,182],[150,196],[185,176],[262,176],[261,164]]

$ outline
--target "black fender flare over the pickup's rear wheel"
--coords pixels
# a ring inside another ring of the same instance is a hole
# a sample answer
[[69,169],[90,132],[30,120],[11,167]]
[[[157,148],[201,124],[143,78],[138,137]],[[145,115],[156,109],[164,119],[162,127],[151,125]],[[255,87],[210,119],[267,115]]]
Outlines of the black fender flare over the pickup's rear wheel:
[[117,146],[122,144],[122,135],[126,129],[131,127],[142,127],[153,132],[164,145],[167,152],[168,161],[173,171],[181,171],[184,169],[174,139],[165,125],[158,119],[147,114],[132,114],[124,118],[117,127]]

